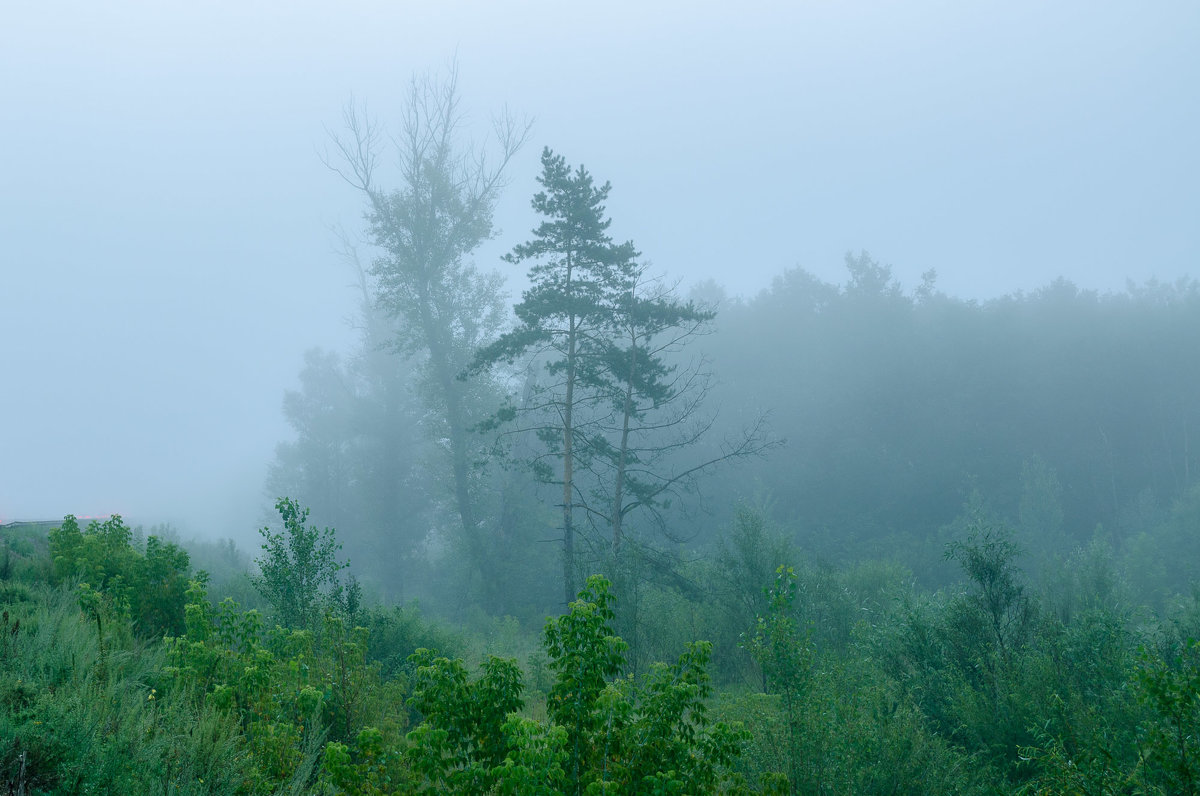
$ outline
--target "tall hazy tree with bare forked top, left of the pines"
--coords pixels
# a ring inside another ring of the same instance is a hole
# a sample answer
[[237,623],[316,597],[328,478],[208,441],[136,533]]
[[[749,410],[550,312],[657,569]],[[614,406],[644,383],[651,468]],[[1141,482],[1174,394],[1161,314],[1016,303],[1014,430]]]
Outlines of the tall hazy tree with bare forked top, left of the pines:
[[341,163],[331,166],[367,199],[368,237],[380,255],[371,267],[380,309],[396,323],[395,347],[424,358],[420,394],[436,418],[431,432],[445,441],[455,509],[474,563],[486,559],[472,459],[470,426],[479,420],[479,384],[457,379],[472,353],[504,318],[500,277],[482,274],[467,257],[493,233],[492,213],[504,169],[526,139],[528,125],[504,116],[496,124],[498,151],[460,143],[463,112],[457,71],[438,82],[414,78],[395,137],[398,186],[380,184],[385,137],[356,108],[344,114],[346,136],[335,138]]

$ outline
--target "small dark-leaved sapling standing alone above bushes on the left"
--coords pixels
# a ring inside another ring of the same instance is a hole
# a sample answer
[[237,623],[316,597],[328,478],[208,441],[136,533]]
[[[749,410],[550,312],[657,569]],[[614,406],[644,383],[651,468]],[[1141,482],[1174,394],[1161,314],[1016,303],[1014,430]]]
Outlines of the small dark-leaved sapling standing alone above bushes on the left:
[[347,567],[337,559],[332,528],[308,525],[308,509],[281,497],[275,509],[283,531],[262,528],[263,555],[256,558],[256,588],[270,602],[280,622],[288,628],[314,628],[326,610],[338,608],[343,595],[338,573]]

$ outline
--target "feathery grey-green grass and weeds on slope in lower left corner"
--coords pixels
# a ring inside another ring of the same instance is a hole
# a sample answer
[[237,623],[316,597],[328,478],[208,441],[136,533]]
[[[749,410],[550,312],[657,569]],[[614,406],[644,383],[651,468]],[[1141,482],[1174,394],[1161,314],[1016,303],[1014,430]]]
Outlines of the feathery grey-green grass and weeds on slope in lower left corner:
[[164,687],[161,647],[128,628],[101,645],[71,592],[30,598],[0,614],[0,782],[23,770],[30,794],[248,792],[238,725]]

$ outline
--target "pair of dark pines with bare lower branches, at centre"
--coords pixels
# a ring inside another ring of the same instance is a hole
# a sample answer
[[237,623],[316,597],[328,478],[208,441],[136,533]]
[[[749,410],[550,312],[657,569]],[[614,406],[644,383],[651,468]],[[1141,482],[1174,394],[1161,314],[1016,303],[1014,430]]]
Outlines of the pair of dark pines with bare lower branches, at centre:
[[686,460],[712,425],[702,409],[708,376],[677,359],[714,312],[648,279],[631,241],[613,243],[604,207],[610,184],[598,187],[586,168],[572,169],[550,149],[541,162],[544,190],[533,208],[545,220],[508,257],[533,263],[530,287],[515,307],[520,325],[481,349],[473,369],[524,357],[544,365],[547,381],[530,381],[520,409],[508,407],[498,419],[520,411],[522,429],[544,444],[535,472],[562,487],[563,591],[570,602],[577,509],[589,527],[607,531],[619,555],[632,511],[656,511],[700,473],[770,443],[760,419],[714,455]]

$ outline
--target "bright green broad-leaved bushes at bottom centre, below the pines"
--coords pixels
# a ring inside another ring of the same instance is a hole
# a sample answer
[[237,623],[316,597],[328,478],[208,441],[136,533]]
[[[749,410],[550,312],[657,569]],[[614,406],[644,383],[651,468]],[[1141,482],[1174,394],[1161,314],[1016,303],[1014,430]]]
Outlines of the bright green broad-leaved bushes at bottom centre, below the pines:
[[594,576],[546,623],[546,720],[521,716],[515,660],[488,657],[472,678],[461,660],[420,650],[409,698],[420,724],[403,740],[366,730],[330,743],[326,782],[349,794],[750,792],[733,772],[744,732],[708,717],[710,646],[620,677],[611,603],[608,581]]

